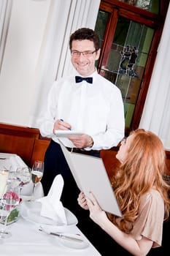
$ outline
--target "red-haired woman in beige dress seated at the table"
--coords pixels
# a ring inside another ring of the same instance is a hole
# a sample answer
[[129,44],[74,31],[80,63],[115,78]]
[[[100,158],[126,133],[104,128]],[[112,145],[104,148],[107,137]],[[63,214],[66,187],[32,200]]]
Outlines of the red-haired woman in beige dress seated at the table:
[[117,152],[121,165],[112,187],[123,218],[107,214],[90,193],[78,197],[90,218],[132,255],[147,255],[161,246],[163,219],[169,217],[169,185],[163,180],[165,151],[157,135],[136,129]]

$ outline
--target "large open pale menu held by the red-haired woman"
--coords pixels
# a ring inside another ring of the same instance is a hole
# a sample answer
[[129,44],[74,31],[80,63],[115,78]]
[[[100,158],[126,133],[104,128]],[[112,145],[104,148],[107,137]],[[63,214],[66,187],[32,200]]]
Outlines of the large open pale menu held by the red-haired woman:
[[60,140],[59,142],[80,191],[87,196],[89,192],[93,192],[104,211],[122,217],[103,160],[99,157],[69,152]]

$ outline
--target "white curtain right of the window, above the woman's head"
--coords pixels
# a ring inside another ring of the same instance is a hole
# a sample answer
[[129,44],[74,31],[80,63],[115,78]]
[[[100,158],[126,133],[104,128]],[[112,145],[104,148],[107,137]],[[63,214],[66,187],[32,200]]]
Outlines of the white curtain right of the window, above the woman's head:
[[152,72],[140,128],[154,132],[170,150],[170,6]]

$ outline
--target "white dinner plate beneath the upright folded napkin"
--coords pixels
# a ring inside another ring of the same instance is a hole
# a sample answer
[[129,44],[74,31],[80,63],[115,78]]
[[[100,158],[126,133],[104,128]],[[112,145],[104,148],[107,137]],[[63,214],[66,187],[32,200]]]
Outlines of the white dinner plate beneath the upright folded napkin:
[[[69,211],[67,208],[64,208],[65,214],[66,214],[66,220],[67,225],[77,225],[77,217],[75,217],[74,214],[72,214],[71,211]],[[55,221],[53,219],[42,217],[41,214],[41,203],[36,201],[25,201],[22,203],[20,207],[20,216],[23,217],[23,219],[26,219],[29,222],[33,222],[36,224],[42,224],[42,225],[55,225],[55,226],[63,226],[62,222]]]

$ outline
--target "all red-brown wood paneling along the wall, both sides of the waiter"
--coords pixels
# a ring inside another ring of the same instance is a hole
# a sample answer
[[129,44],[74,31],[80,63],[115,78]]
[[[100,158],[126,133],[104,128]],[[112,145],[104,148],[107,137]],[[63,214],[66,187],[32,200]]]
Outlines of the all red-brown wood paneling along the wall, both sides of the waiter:
[[[0,152],[18,154],[28,166],[36,159],[44,159],[49,143],[49,139],[41,137],[39,129],[0,123]],[[101,150],[101,158],[109,178],[115,174],[120,164],[115,157],[117,150],[118,148]],[[166,174],[170,176],[170,151],[166,151],[166,157]]]

